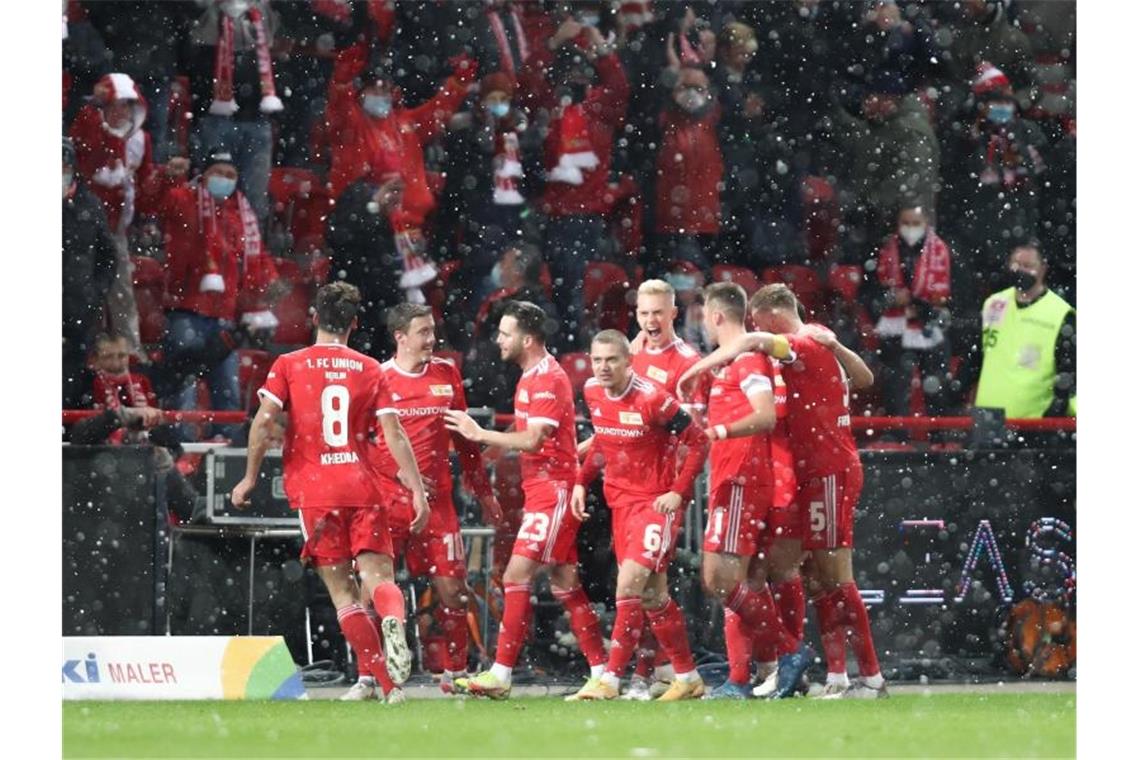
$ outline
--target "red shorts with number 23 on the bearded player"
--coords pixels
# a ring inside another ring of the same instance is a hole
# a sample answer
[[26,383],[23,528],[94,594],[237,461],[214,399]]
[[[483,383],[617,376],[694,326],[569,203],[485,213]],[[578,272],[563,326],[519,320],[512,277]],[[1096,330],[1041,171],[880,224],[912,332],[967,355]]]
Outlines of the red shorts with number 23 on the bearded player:
[[578,562],[578,526],[570,514],[570,484],[543,481],[523,484],[522,525],[511,554],[546,565]]

